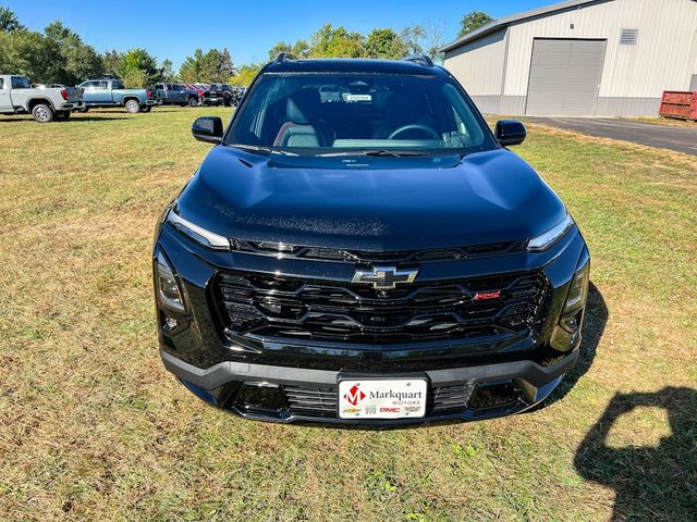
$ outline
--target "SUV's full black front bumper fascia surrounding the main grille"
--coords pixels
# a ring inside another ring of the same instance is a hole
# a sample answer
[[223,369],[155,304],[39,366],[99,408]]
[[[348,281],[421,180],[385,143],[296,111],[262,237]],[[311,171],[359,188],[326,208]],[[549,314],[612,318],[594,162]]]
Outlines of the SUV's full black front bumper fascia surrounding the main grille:
[[[199,398],[246,419],[399,425],[503,417],[543,400],[578,357],[579,332],[573,337],[559,335],[571,282],[588,261],[576,228],[541,253],[421,265],[419,277],[437,282],[512,271],[543,274],[547,297],[540,304],[539,321],[529,333],[405,345],[272,337],[252,341],[230,336],[216,306],[215,282],[221,271],[281,273],[345,284],[353,274],[353,263],[212,251],[169,225],[158,228],[156,237],[156,249],[161,249],[174,268],[188,304],[186,313],[178,314],[158,301],[164,366]],[[173,326],[167,324],[168,320],[174,320]],[[559,338],[564,343],[554,341]],[[395,421],[339,419],[338,380],[348,373],[362,378],[418,373],[428,380],[426,417]]]

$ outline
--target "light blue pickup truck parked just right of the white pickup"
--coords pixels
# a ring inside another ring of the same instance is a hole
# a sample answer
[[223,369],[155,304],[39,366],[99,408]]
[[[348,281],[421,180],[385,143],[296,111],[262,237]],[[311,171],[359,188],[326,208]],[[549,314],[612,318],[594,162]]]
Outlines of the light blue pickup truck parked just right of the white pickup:
[[150,112],[152,107],[159,104],[154,90],[126,89],[120,79],[88,79],[78,87],[85,89],[84,112],[96,107],[123,107],[126,112],[135,114],[140,111]]

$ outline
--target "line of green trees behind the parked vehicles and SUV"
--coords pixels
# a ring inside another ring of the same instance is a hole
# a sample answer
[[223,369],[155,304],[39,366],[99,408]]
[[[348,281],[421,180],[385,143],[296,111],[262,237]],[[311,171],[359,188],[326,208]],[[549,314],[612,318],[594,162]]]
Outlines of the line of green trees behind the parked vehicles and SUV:
[[[491,21],[486,13],[473,12],[461,21],[458,35],[475,30]],[[281,52],[297,58],[379,58],[400,59],[426,54],[436,61],[444,44],[444,24],[428,22],[395,30],[376,28],[368,34],[326,24],[308,38],[295,42],[279,41],[269,50],[269,60]],[[23,74],[35,83],[76,85],[103,75],[122,78],[126,87],[151,87],[159,82],[230,83],[249,85],[264,64],[235,66],[227,48],[196,49],[179,71],[169,59],[161,62],[146,49],[115,49],[100,53],[62,22],[47,25],[44,32],[29,30],[9,9],[0,7],[0,71]]]

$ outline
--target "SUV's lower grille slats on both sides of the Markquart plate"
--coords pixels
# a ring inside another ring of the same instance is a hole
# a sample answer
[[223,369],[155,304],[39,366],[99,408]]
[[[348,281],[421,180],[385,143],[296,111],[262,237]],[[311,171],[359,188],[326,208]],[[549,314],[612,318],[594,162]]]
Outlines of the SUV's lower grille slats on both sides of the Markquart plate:
[[[426,414],[442,415],[466,409],[474,389],[474,384],[431,388]],[[323,419],[337,417],[335,386],[284,386],[284,390],[291,413]]]

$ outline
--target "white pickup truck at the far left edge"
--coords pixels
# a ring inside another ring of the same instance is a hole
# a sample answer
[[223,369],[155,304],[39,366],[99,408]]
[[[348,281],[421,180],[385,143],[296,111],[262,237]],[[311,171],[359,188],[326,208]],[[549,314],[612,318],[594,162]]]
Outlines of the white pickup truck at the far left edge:
[[33,88],[26,76],[0,74],[0,114],[32,114],[39,123],[63,122],[83,107],[81,89]]

